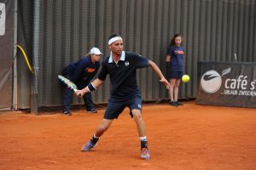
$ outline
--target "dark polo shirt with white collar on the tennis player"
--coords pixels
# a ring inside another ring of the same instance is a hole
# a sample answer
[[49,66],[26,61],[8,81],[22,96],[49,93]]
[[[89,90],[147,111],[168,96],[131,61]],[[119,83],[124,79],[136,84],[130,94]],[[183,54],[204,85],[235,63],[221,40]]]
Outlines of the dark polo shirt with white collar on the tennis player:
[[110,99],[131,99],[140,95],[136,70],[144,67],[148,67],[148,59],[135,53],[123,51],[117,64],[114,63],[111,55],[103,59],[102,70],[98,78],[105,81],[109,74],[112,85]]

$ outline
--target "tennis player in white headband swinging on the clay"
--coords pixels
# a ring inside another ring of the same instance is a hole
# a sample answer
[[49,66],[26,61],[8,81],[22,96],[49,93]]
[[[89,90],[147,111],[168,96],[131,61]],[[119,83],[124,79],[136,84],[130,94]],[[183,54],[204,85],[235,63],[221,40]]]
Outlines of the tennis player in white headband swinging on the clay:
[[96,90],[105,81],[109,74],[112,84],[110,99],[105,111],[102,123],[97,127],[96,132],[87,144],[84,144],[82,151],[91,150],[102,134],[108,130],[113,119],[117,119],[125,107],[130,108],[130,115],[137,123],[137,130],[141,141],[141,158],[149,159],[146,127],[142,116],[142,97],[137,87],[138,68],[151,67],[160,77],[160,82],[169,86],[169,82],[161,73],[159,67],[153,61],[143,58],[141,55],[123,51],[123,40],[118,34],[113,34],[108,41],[111,54],[102,61],[102,70],[98,78],[91,82],[86,88],[79,90],[76,94],[82,96]]

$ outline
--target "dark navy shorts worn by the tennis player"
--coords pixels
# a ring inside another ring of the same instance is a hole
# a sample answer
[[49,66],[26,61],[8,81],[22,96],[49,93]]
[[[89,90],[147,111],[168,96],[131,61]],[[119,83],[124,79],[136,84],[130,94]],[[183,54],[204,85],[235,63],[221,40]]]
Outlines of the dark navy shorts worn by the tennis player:
[[131,111],[134,109],[142,111],[142,98],[140,95],[137,95],[131,99],[126,100],[115,100],[109,99],[107,109],[104,114],[104,119],[117,119],[119,114],[121,114],[125,107],[128,106],[130,109],[131,118],[133,117]]

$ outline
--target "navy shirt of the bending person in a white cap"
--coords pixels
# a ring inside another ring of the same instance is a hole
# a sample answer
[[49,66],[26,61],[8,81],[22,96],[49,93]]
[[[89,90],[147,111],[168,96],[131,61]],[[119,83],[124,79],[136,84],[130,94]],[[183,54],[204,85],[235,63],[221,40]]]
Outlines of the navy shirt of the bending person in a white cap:
[[86,56],[67,65],[64,71],[66,71],[71,77],[71,81],[74,83],[90,82],[90,80],[95,77],[100,66],[101,64],[99,61],[93,63],[90,56]]

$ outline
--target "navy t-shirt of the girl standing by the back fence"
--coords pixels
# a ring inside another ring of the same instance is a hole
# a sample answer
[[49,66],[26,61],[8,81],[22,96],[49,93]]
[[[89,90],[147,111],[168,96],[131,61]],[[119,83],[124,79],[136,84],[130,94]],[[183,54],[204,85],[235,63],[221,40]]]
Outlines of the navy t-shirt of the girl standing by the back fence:
[[172,46],[167,49],[167,55],[171,55],[171,71],[183,71],[183,47]]

